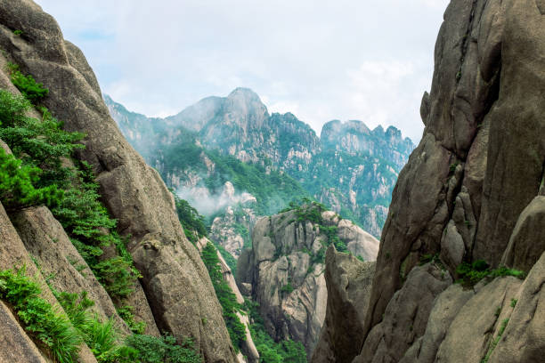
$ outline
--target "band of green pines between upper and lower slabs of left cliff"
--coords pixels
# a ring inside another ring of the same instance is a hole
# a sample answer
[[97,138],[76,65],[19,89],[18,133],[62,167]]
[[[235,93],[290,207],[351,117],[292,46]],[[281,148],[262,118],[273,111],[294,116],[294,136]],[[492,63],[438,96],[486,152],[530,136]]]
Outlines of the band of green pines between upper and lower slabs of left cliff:
[[[16,74],[16,66],[11,68]],[[125,297],[133,291],[134,280],[140,274],[124,242],[109,231],[117,222],[100,202],[92,168],[85,162],[80,162],[77,169],[64,166],[76,149],[84,148],[76,143],[84,135],[63,131],[61,122],[43,107],[39,108],[42,120],[26,117],[30,107],[24,97],[0,91],[0,139],[22,160],[6,157],[4,150],[0,151],[0,163],[4,162],[0,169],[0,199],[6,209],[49,206],[106,290],[113,297]],[[40,189],[34,188],[36,185]],[[102,247],[110,245],[117,247],[120,256],[99,261]]]

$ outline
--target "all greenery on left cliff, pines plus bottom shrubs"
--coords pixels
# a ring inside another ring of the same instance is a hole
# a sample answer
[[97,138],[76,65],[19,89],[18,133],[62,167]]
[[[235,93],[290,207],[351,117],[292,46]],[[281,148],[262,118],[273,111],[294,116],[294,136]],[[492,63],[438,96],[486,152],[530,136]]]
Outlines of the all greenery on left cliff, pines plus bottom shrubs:
[[[10,70],[23,96],[0,90],[0,140],[13,152],[0,149],[0,201],[8,212],[49,206],[96,278],[120,302],[134,291],[140,273],[115,230],[117,221],[100,201],[92,168],[72,157],[75,150],[84,149],[77,141],[85,135],[63,131],[62,123],[39,103],[48,93],[44,85],[23,76],[12,64]],[[41,113],[41,119],[28,117],[33,109]],[[113,246],[118,255],[102,259],[107,246]],[[85,292],[77,295],[50,288],[66,314],[39,296],[41,287],[25,276],[24,268],[0,272],[0,297],[56,361],[76,361],[81,343],[101,363],[201,361],[191,341],[178,344],[170,335],[142,335],[145,324],[134,320],[130,305],[120,305],[118,313],[137,334],[123,338],[112,319],[101,321],[90,311],[94,302]]]

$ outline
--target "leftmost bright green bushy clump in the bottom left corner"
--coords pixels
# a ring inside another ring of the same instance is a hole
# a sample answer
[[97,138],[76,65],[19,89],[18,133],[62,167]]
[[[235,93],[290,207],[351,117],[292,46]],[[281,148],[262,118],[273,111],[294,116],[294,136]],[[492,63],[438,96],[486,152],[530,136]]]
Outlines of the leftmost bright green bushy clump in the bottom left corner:
[[25,276],[25,268],[0,271],[0,297],[12,305],[28,334],[51,351],[56,361],[77,361],[80,336],[68,317],[39,297],[40,293],[37,282]]

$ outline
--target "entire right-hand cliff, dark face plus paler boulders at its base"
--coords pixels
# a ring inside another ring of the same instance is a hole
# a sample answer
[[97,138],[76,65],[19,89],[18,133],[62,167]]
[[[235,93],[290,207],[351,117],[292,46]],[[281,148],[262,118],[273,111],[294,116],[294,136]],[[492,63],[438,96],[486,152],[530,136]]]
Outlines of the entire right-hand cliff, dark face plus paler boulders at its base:
[[364,325],[328,327],[357,335],[359,354],[334,348],[326,361],[542,359],[543,16],[537,0],[449,4],[426,129],[395,186]]

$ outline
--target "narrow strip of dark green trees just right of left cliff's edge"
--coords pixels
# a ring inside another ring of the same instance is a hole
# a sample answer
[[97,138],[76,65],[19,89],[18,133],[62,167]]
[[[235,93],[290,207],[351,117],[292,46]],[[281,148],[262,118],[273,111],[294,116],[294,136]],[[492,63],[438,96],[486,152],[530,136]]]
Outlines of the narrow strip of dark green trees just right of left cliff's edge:
[[237,303],[237,298],[233,294],[232,289],[224,281],[224,275],[220,267],[220,261],[217,257],[216,247],[208,243],[202,249],[202,261],[207,267],[208,274],[212,280],[212,285],[216,291],[217,299],[222,305],[224,311],[224,320],[229,336],[231,337],[232,345],[238,351],[242,342],[246,341],[246,329],[244,324],[240,322],[236,315],[240,311],[240,303]]

